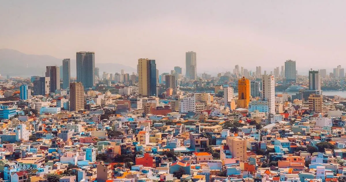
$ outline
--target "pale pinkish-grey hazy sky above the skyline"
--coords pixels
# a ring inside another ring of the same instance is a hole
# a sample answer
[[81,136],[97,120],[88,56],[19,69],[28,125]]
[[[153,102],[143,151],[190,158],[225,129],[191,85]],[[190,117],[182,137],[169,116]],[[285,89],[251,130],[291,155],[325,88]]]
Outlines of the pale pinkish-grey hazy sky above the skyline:
[[272,71],[287,59],[300,72],[343,66],[345,7],[341,0],[1,1],[0,48],[73,59],[94,51],[96,63],[132,67],[152,58],[160,72],[185,68],[185,52],[195,51],[198,73],[235,64]]

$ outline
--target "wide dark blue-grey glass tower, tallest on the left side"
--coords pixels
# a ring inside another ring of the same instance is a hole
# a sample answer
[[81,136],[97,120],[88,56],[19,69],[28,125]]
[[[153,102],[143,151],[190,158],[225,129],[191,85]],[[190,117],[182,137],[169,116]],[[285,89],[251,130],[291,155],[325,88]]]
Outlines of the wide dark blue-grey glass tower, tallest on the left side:
[[95,84],[95,52],[77,52],[77,82],[84,88],[91,88]]

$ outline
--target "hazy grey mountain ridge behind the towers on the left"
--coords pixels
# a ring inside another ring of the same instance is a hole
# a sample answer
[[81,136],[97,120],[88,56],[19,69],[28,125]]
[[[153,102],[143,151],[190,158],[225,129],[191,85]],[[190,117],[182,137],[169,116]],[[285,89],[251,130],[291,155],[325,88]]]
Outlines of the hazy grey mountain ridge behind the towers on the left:
[[[62,60],[49,55],[25,54],[13,49],[0,49],[0,74],[2,76],[33,76],[44,75],[46,66],[61,66]],[[95,60],[97,62],[97,60]],[[71,59],[71,76],[76,76],[76,60]],[[95,63],[100,68],[100,76],[102,72],[120,73],[124,69],[125,73],[132,74],[137,72],[131,66],[118,63]]]

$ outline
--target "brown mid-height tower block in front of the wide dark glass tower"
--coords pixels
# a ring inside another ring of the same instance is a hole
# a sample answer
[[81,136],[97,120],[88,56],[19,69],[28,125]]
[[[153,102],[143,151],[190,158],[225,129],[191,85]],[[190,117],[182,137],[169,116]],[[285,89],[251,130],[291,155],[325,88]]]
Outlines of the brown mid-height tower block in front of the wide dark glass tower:
[[70,83],[70,111],[84,109],[84,87],[81,82]]

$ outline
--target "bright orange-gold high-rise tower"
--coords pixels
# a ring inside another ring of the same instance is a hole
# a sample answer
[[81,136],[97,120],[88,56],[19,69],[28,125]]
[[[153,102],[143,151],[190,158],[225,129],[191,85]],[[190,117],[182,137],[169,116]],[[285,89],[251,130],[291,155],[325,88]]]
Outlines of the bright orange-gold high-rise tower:
[[250,102],[250,80],[243,78],[238,80],[238,107],[248,108]]

